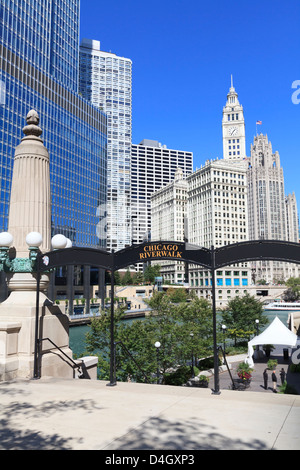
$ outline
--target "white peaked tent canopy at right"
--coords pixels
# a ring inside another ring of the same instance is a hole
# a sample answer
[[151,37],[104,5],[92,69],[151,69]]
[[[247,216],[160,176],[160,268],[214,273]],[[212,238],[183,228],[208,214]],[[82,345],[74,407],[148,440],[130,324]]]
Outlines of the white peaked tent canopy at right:
[[278,317],[275,317],[271,325],[269,325],[260,335],[255,336],[248,342],[248,356],[246,362],[253,366],[252,359],[254,349],[253,346],[258,344],[282,344],[294,347],[297,344],[297,335],[289,330]]

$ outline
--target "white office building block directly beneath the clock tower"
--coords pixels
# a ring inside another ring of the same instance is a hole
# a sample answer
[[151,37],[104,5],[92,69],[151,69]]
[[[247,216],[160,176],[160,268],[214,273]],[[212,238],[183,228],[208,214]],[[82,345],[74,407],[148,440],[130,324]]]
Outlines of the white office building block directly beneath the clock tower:
[[[248,240],[247,178],[244,162],[211,160],[188,176],[188,241],[215,248]],[[189,265],[190,286],[199,297],[211,298],[211,276]],[[222,307],[251,284],[247,263],[216,271],[216,302]]]

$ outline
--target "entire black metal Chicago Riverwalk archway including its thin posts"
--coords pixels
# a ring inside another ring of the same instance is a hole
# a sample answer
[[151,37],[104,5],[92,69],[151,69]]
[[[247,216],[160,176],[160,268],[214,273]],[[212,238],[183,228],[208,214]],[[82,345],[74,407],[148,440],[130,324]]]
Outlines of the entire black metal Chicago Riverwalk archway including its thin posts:
[[[39,378],[39,291],[41,273],[59,266],[90,265],[115,271],[146,261],[159,260],[184,261],[203,266],[211,271],[212,278],[212,312],[214,341],[214,394],[220,393],[217,323],[215,298],[215,270],[230,264],[258,260],[284,261],[300,264],[300,244],[277,240],[257,240],[225,245],[220,248],[203,248],[189,243],[174,241],[146,242],[132,245],[117,252],[107,252],[92,248],[64,248],[37,256],[37,291],[36,291],[36,331],[34,353],[34,377]],[[111,276],[111,321],[110,321],[110,383],[116,385],[115,351],[114,351],[114,276]]]

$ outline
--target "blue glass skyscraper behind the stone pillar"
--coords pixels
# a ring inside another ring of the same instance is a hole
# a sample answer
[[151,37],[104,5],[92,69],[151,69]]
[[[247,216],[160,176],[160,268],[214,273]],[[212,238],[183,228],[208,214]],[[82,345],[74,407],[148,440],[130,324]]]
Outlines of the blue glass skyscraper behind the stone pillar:
[[78,66],[79,0],[0,0],[0,231],[14,150],[35,109],[50,155],[52,235],[104,248],[107,119],[79,95]]

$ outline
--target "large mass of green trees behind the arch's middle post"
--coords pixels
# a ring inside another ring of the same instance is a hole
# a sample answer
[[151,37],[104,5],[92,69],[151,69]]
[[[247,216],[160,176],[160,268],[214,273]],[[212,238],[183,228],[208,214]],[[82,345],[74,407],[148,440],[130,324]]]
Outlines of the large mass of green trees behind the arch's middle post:
[[[194,299],[189,303],[174,304],[162,292],[155,293],[148,301],[152,311],[143,320],[124,322],[121,309],[115,312],[115,341],[130,351],[149,381],[156,382],[157,351],[156,341],[161,343],[158,351],[158,365],[161,376],[171,369],[186,365],[194,358],[212,354],[212,314],[206,300]],[[193,337],[190,333],[193,333]],[[87,353],[99,355],[99,378],[109,378],[110,316],[101,315],[92,320],[86,335]],[[143,374],[134,361],[117,346],[117,380],[143,382]],[[190,370],[190,368],[189,368]]]

